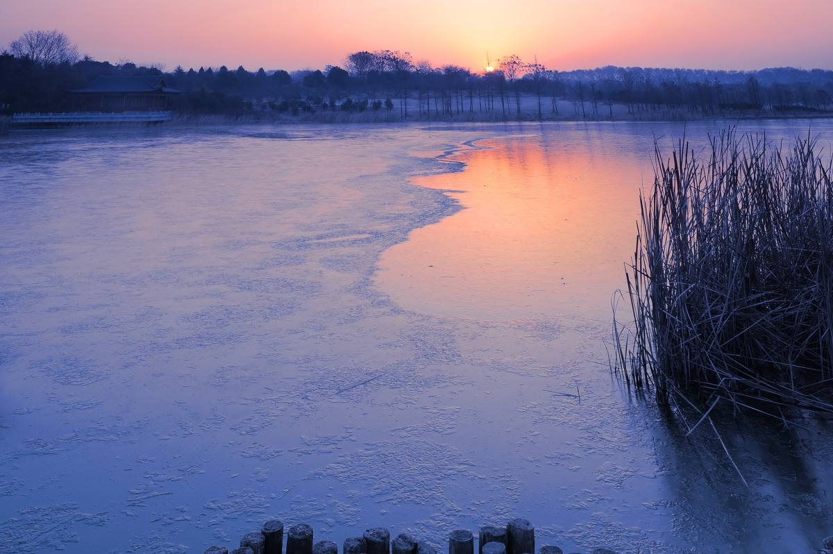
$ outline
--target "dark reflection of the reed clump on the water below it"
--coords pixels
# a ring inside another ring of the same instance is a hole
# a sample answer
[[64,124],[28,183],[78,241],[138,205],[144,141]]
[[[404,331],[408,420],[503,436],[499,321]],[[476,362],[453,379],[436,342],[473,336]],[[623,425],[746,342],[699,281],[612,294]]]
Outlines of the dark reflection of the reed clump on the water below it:
[[710,428],[686,437],[670,414],[654,428],[676,531],[696,552],[815,552],[833,522],[829,426],[784,429],[729,413],[716,422],[749,488]]

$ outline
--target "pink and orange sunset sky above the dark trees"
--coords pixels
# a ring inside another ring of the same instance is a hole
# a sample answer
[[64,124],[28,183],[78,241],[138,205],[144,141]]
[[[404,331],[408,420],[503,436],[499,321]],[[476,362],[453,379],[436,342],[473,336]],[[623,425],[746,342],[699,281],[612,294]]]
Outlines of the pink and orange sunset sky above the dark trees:
[[0,47],[57,28],[97,60],[288,70],[411,52],[473,70],[833,69],[831,0],[0,0]]

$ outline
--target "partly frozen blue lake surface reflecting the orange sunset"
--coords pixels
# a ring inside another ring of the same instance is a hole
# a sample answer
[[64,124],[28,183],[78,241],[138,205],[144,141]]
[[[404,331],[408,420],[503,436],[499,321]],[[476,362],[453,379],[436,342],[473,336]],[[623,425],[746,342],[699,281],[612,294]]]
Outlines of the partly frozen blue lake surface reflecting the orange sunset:
[[[811,552],[830,429],[725,422],[746,489],[607,367],[654,137],[726,124],[0,137],[0,552],[199,553],[268,517]],[[743,128],[808,126],[829,148]]]

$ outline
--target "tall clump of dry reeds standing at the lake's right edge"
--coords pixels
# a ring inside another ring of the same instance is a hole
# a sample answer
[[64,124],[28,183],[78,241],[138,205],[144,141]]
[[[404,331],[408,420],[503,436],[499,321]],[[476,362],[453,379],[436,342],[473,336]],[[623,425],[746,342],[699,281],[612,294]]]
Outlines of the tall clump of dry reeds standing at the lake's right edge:
[[784,421],[833,412],[831,163],[809,136],[771,146],[729,130],[710,144],[655,145],[612,366],[701,422],[721,400]]

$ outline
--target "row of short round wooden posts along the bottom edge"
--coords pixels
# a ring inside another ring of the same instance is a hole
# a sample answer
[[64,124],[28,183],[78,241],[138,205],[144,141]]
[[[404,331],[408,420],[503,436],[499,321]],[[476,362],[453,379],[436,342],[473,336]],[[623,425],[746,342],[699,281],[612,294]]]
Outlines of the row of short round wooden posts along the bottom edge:
[[[298,523],[287,527],[286,554],[338,554],[332,541],[312,542],[312,527]],[[224,547],[209,547],[205,554],[284,554],[283,522],[271,520],[260,531],[243,535],[240,547],[229,553]],[[480,528],[477,554],[535,554],[535,527],[526,519],[513,519],[506,526],[484,525]],[[384,527],[372,527],[362,537],[345,539],[342,554],[437,554],[424,541],[416,541],[407,533],[400,533],[391,541],[391,533]],[[465,529],[448,534],[448,554],[474,554],[474,535]],[[538,554],[563,554],[561,548],[546,545]],[[593,554],[616,554],[606,548],[596,548]]]

